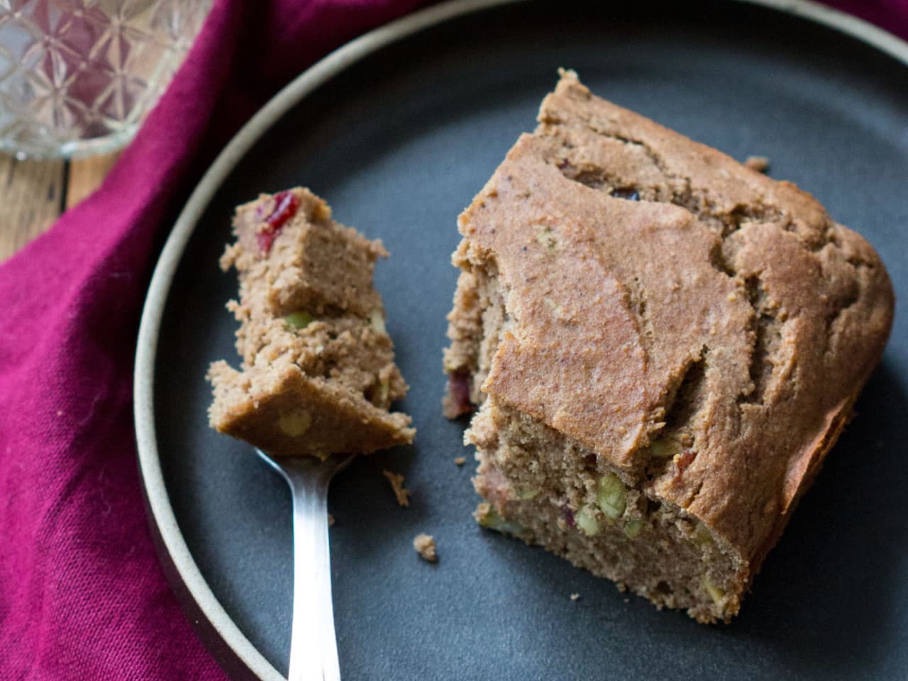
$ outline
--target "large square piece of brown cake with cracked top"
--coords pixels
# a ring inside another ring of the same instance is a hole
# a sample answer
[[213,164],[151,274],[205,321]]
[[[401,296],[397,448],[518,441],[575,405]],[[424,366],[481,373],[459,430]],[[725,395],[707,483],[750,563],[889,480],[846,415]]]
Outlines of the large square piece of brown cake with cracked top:
[[809,194],[572,72],[538,122],[459,217],[477,518],[727,621],[881,356],[888,276]]

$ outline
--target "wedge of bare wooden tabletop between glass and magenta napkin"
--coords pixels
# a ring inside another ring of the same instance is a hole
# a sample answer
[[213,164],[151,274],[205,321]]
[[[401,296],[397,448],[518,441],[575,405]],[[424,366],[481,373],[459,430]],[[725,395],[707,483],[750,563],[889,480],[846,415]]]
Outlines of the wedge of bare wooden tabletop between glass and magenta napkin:
[[0,262],[94,192],[119,153],[80,161],[16,161],[0,154]]

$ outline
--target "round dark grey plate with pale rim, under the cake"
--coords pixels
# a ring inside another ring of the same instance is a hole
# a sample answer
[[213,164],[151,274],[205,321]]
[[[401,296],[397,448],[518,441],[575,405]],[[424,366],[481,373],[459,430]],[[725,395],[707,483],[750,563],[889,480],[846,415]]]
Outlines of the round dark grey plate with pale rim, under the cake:
[[[223,304],[236,282],[217,267],[232,207],[303,184],[392,253],[376,280],[419,428],[415,447],[358,460],[331,490],[345,678],[904,678],[908,45],[800,3],[479,5],[410,17],[302,76],[215,164],[163,254],[137,430],[163,562],[202,637],[234,676],[286,669],[290,496],[207,428],[204,373],[235,359]],[[769,156],[773,176],[873,243],[902,296],[857,419],[727,627],[657,612],[470,518],[471,467],[454,464],[470,455],[464,424],[439,409],[455,219],[533,128],[558,66],[737,158]],[[381,469],[406,476],[410,508]],[[438,540],[438,565],[411,548],[419,532]]]

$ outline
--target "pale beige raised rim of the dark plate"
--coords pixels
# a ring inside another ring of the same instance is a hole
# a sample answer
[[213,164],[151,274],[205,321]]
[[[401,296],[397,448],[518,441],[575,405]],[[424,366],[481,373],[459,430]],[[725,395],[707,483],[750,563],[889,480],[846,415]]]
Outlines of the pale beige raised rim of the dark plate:
[[[202,175],[164,243],[144,301],[136,341],[133,423],[139,473],[158,559],[171,582],[173,591],[183,596],[180,599],[181,606],[197,635],[228,675],[252,674],[250,678],[262,681],[281,681],[284,678],[252,645],[214,596],[183,538],[163,479],[154,426],[154,366],[164,304],[186,245],[215,192],[220,189],[235,165],[272,125],[278,123],[284,114],[321,84],[327,83],[380,48],[431,26],[499,5],[516,5],[531,1],[449,0],[439,5],[431,5],[372,29],[312,64],[290,84],[285,85],[242,126],[239,132],[233,135],[231,141]],[[847,15],[827,5],[820,5],[814,0],[726,1],[758,5],[833,28],[908,66],[908,42],[864,19]],[[190,602],[187,603],[184,598]]]

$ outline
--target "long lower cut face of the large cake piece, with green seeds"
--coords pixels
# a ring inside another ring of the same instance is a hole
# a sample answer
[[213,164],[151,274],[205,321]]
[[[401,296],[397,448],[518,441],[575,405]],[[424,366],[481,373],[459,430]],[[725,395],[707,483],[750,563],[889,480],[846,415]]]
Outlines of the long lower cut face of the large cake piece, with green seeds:
[[490,399],[468,434],[479,524],[568,558],[657,607],[712,622],[739,603],[740,559],[684,511],[628,486],[615,469],[552,429]]

